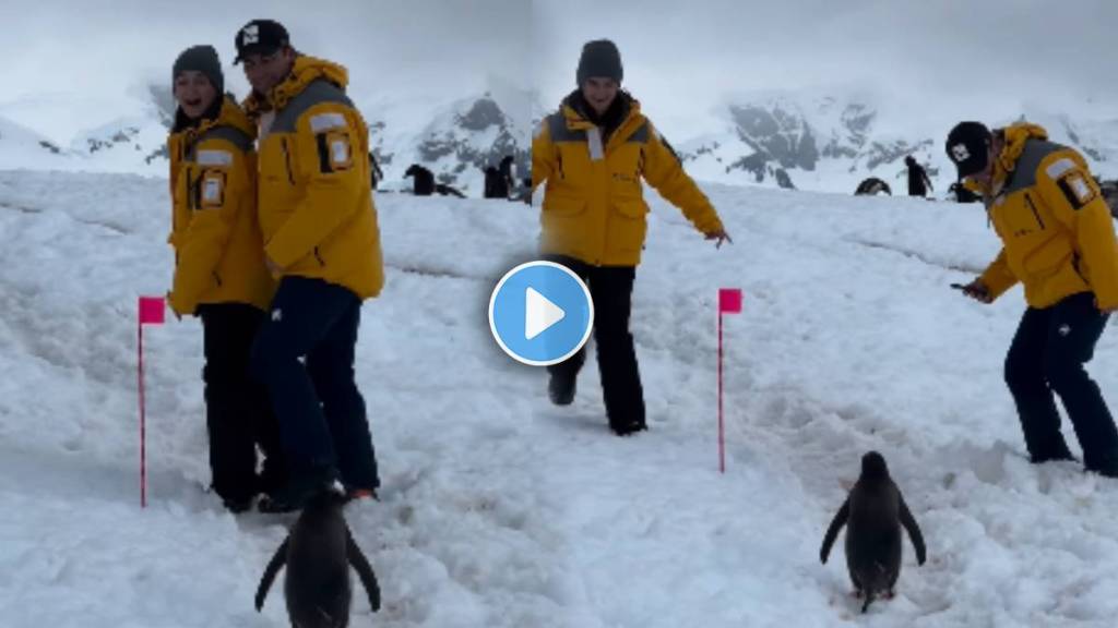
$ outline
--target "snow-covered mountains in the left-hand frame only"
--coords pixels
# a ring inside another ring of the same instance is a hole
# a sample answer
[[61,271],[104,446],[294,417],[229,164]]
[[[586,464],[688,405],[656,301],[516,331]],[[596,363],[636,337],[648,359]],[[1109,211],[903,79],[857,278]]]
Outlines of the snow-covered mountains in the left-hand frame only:
[[[385,185],[408,187],[404,172],[413,163],[472,197],[482,193],[485,166],[505,155],[513,156],[518,172],[527,173],[527,93],[493,82],[490,87],[448,102],[354,98],[368,120]],[[167,133],[174,114],[170,86],[149,84],[131,92],[124,104],[110,108],[68,95],[0,105],[0,168],[164,175]],[[69,120],[68,129],[58,127],[59,117]]]

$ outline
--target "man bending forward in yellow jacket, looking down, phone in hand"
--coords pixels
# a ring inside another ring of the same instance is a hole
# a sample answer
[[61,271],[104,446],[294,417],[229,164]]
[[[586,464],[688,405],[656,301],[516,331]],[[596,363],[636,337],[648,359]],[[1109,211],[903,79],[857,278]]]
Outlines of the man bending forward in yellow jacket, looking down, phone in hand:
[[1034,463],[1071,459],[1053,392],[1068,411],[1087,470],[1118,477],[1118,429],[1083,364],[1118,308],[1118,245],[1110,210],[1077,151],[1033,124],[991,132],[964,122],[947,137],[959,177],[984,194],[1003,248],[964,293],[992,303],[1024,285],[1029,308],[1005,359]]

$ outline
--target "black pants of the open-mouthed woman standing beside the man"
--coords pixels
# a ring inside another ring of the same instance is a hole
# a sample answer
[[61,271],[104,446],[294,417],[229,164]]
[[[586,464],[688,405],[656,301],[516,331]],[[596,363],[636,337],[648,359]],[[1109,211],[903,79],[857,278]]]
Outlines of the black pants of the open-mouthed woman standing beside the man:
[[[243,303],[200,305],[206,365],[206,427],[214,491],[244,502],[285,482],[280,426],[265,388],[249,377],[253,341],[264,312]],[[257,477],[256,447],[264,454]]]

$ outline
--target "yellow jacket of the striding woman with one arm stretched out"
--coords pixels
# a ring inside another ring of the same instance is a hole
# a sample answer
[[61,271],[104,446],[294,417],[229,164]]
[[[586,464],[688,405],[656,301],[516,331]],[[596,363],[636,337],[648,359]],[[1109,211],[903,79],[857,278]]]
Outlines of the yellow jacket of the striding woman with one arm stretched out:
[[648,225],[643,177],[700,231],[722,228],[718,212],[679,158],[624,92],[628,113],[607,139],[568,98],[532,139],[532,188],[547,181],[541,253],[595,266],[641,263]]

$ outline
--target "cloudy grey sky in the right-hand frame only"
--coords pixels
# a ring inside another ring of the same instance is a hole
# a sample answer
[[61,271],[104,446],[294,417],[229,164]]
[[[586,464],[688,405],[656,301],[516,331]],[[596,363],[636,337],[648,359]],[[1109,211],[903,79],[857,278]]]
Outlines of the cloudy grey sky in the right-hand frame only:
[[645,111],[674,118],[727,93],[831,84],[979,115],[1065,111],[1118,105],[1116,29],[1114,0],[536,0],[532,63],[547,107],[574,87],[581,44],[607,37]]

